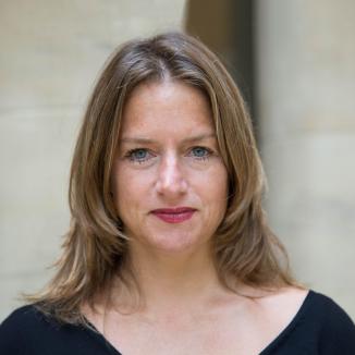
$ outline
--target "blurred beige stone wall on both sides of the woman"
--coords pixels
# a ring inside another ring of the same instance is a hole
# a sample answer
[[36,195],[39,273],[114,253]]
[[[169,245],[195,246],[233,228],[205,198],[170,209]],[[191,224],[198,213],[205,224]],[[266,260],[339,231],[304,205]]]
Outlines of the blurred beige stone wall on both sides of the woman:
[[[355,318],[352,0],[256,1],[259,130],[273,229],[296,274]],[[184,0],[0,4],[0,320],[44,285],[66,232],[71,155],[103,61],[180,28]]]

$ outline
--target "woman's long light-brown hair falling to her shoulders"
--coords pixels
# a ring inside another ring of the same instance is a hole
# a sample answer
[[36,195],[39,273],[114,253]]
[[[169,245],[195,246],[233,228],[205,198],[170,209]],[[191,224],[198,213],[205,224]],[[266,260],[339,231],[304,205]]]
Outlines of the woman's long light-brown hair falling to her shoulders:
[[81,306],[93,304],[113,282],[134,286],[127,272],[127,237],[111,198],[110,175],[130,93],[143,82],[164,79],[200,89],[211,106],[229,174],[228,209],[213,237],[221,282],[234,291],[237,283],[271,289],[295,284],[285,250],[264,217],[264,172],[238,88],[199,40],[167,33],[120,47],[109,58],[89,99],[71,168],[71,229],[54,278],[41,293],[27,298],[59,320],[82,321]]

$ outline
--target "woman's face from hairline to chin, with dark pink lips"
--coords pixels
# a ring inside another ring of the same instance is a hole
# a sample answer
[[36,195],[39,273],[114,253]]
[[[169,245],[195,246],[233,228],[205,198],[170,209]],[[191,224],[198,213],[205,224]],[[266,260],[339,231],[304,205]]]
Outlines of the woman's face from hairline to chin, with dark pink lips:
[[111,183],[124,232],[155,250],[209,247],[228,175],[204,95],[178,82],[140,84],[119,138]]

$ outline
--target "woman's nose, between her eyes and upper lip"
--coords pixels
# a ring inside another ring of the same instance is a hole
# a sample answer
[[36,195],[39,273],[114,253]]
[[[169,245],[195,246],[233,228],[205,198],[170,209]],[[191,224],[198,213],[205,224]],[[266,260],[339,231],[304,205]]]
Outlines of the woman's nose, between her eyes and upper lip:
[[169,154],[162,158],[156,188],[158,194],[168,198],[175,198],[187,192],[187,181],[182,163],[174,154]]

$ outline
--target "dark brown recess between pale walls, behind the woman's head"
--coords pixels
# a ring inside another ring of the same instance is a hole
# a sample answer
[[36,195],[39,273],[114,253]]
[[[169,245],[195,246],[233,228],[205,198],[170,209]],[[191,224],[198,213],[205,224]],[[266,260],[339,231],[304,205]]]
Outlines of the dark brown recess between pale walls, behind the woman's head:
[[253,0],[187,0],[185,30],[219,54],[254,118]]

